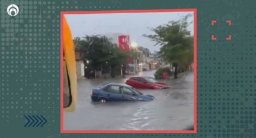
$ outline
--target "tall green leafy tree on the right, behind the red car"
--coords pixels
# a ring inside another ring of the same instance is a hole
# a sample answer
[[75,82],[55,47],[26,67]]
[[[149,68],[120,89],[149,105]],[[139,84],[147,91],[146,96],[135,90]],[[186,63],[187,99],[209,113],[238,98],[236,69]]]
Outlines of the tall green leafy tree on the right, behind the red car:
[[177,78],[178,68],[187,70],[193,63],[193,45],[190,32],[187,26],[190,24],[187,19],[192,14],[187,14],[184,19],[170,21],[167,24],[151,29],[155,34],[144,35],[155,41],[155,46],[161,46],[158,54],[161,58],[173,65],[174,78]]

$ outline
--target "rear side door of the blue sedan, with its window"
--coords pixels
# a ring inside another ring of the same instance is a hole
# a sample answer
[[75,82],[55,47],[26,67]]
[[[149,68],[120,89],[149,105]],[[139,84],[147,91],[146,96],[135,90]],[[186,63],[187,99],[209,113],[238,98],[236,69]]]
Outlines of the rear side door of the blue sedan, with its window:
[[109,85],[103,89],[104,97],[109,101],[120,101],[122,100],[122,94],[120,91],[120,86],[118,85]]

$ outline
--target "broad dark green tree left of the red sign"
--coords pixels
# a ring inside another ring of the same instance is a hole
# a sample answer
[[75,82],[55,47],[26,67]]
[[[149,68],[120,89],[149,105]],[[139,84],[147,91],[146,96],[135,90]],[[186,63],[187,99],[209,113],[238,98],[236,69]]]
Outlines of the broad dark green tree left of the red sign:
[[[102,71],[102,67],[111,67],[111,73],[114,73],[116,67],[119,67],[129,53],[119,50],[116,44],[111,43],[105,36],[93,35],[81,40],[75,38],[74,42],[84,52],[83,61],[88,70]],[[114,76],[114,74],[112,74]]]

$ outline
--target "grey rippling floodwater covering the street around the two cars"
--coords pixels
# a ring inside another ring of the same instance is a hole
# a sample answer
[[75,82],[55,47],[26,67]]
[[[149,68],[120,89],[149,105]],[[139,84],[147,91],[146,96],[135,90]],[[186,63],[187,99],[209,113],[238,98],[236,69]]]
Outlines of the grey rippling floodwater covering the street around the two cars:
[[[145,71],[139,76],[154,76]],[[181,78],[182,76],[180,76]],[[140,89],[153,95],[153,101],[119,101],[95,103],[90,99],[92,88],[115,79],[78,81],[78,101],[75,112],[64,112],[64,130],[183,130],[193,125],[193,73],[184,81],[167,80],[169,89]]]

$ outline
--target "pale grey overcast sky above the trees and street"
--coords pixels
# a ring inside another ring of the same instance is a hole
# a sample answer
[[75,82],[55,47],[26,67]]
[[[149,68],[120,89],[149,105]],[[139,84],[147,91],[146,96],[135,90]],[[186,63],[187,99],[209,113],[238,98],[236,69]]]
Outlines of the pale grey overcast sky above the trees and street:
[[[137,43],[154,52],[154,50],[158,51],[160,47],[154,46],[154,41],[142,35],[154,34],[149,28],[163,25],[170,20],[179,20],[189,13],[193,14],[193,12],[66,14],[65,17],[73,38],[96,34],[126,34],[130,35],[131,43]],[[193,16],[188,21],[192,20]],[[193,24],[189,25],[187,29],[193,35]]]

